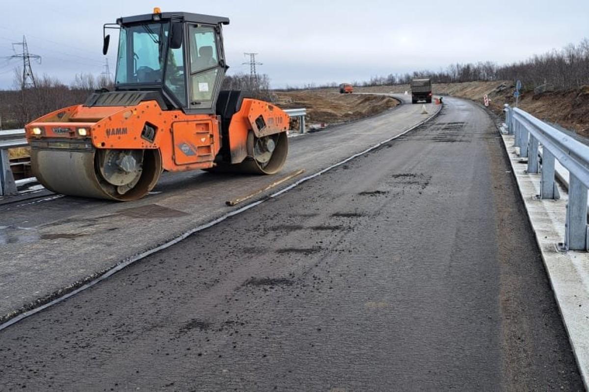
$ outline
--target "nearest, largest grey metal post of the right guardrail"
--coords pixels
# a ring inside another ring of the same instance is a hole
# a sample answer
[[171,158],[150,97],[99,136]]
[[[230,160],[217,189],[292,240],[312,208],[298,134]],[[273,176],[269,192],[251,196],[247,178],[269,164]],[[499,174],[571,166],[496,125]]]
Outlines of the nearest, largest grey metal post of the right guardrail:
[[573,173],[569,173],[568,176],[564,246],[567,250],[585,250],[587,249],[587,187]]

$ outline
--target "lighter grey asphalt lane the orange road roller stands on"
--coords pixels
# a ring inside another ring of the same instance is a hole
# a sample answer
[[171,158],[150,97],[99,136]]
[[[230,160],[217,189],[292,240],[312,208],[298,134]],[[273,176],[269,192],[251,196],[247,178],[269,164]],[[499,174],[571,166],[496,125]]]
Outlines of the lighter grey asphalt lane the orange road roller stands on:
[[233,210],[226,206],[227,200],[249,195],[300,169],[307,174],[319,172],[399,135],[439,109],[425,106],[427,114],[422,113],[422,105],[409,103],[289,138],[288,159],[276,175],[163,173],[153,193],[133,202],[53,195],[1,205],[0,321],[47,303],[64,288],[75,289],[121,260],[225,215]]

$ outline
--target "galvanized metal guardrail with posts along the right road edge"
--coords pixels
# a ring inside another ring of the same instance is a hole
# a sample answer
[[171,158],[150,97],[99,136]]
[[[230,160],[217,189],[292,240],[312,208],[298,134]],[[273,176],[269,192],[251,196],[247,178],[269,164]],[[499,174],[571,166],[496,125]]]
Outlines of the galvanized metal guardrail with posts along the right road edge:
[[[567,133],[518,108],[504,106],[505,125],[515,136],[519,156],[528,158],[528,173],[540,173],[541,199],[558,198],[554,162],[569,172],[567,216],[563,250],[589,250],[587,189],[589,188],[589,146]],[[538,149],[542,146],[542,157]]]

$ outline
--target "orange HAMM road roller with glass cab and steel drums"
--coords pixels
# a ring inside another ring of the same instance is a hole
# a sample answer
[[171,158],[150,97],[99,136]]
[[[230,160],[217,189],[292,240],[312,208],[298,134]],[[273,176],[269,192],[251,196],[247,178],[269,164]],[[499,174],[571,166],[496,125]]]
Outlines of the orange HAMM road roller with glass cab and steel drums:
[[[163,170],[278,172],[289,116],[244,92],[221,91],[227,24],[157,8],[105,24],[105,32],[120,29],[114,91],[27,124],[39,182],[65,195],[127,201],[145,196]],[[104,54],[109,41],[105,34]]]

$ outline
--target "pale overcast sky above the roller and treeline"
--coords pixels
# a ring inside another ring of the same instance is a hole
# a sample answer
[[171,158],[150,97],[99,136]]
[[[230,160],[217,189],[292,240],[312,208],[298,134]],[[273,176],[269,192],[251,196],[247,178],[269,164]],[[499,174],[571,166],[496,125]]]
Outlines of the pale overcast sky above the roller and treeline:
[[[6,0],[0,88],[13,86],[12,69],[20,63],[3,58],[14,54],[11,42],[22,35],[29,51],[42,56],[32,65],[35,74],[69,83],[75,73],[104,71],[102,24],[154,6],[229,17],[230,72],[249,72],[243,52],[258,52],[259,72],[273,87],[437,71],[453,62],[507,63],[589,36],[589,0]],[[111,43],[108,54],[113,73],[115,48]]]

